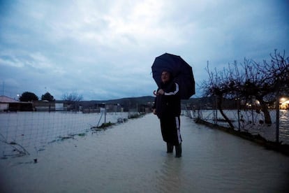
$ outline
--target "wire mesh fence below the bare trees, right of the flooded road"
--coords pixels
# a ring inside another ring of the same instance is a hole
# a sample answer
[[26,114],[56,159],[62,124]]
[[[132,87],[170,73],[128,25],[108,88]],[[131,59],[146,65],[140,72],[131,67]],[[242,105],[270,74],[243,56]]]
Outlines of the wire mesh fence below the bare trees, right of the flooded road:
[[[223,110],[237,131],[260,135],[267,141],[289,144],[289,110],[271,109],[271,123],[266,123],[262,110],[246,108],[242,110]],[[195,120],[200,119],[222,127],[230,127],[220,110],[186,108],[184,115]]]

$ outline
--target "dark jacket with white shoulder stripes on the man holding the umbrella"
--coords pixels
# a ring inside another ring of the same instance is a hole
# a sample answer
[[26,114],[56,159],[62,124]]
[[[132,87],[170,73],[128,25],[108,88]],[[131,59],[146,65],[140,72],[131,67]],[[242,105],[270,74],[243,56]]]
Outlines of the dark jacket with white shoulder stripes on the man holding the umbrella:
[[165,84],[162,83],[158,90],[160,89],[162,89],[165,94],[156,95],[153,107],[156,108],[156,115],[158,115],[159,118],[179,116],[181,114],[179,85],[171,81]]

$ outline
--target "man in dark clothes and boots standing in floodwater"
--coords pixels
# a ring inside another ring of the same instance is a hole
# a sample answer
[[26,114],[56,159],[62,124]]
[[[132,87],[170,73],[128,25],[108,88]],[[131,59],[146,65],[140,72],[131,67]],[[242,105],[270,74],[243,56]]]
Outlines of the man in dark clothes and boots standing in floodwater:
[[181,98],[179,85],[172,79],[172,74],[169,71],[161,73],[161,87],[154,91],[156,99],[153,112],[161,122],[161,134],[163,141],[167,143],[167,152],[173,152],[175,145],[175,157],[181,157],[181,133],[179,129]]

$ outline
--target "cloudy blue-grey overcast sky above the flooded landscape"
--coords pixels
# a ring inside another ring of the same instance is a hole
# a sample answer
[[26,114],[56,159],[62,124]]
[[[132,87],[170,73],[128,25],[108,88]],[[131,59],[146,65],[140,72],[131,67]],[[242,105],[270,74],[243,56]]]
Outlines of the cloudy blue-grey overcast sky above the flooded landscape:
[[289,52],[288,0],[0,3],[0,95],[12,98],[152,96],[151,65],[165,52],[186,60],[196,83],[208,78],[207,61],[223,69]]

